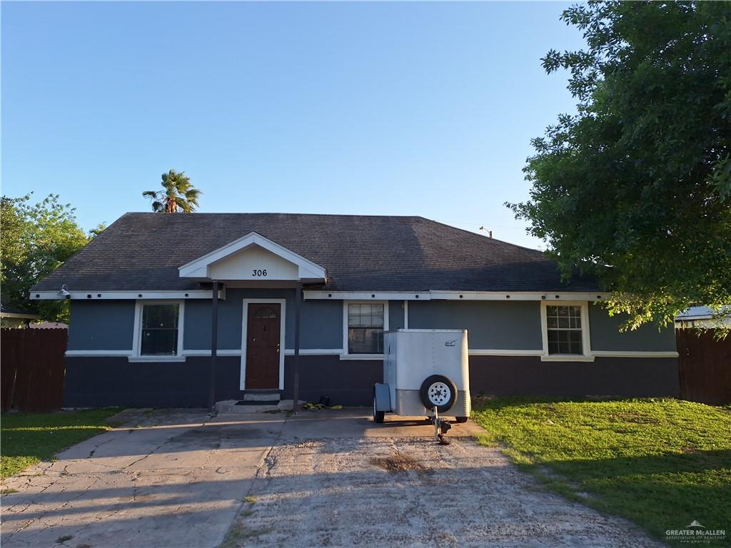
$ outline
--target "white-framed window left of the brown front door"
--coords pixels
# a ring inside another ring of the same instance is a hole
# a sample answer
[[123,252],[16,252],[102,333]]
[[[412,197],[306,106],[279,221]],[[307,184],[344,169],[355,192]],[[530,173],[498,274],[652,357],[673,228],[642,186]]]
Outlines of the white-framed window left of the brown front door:
[[183,301],[137,301],[132,357],[181,358],[184,308]]

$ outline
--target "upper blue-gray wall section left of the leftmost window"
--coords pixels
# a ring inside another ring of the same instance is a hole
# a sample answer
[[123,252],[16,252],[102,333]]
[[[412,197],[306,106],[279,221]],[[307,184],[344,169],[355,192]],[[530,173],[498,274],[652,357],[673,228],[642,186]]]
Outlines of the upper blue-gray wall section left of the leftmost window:
[[69,350],[131,350],[135,301],[71,302]]

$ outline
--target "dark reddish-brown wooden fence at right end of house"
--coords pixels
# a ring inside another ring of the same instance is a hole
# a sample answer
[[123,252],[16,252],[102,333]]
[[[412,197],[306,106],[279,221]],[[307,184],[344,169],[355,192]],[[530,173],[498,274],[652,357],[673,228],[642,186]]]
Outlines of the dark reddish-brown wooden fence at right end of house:
[[731,403],[731,335],[717,339],[713,330],[675,330],[681,397],[711,405]]

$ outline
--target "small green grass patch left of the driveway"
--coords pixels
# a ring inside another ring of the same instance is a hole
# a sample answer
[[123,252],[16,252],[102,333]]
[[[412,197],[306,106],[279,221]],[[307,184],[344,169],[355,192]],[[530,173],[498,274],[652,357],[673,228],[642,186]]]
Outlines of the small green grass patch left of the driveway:
[[68,446],[109,430],[116,408],[57,413],[8,413],[0,417],[0,477],[12,476]]

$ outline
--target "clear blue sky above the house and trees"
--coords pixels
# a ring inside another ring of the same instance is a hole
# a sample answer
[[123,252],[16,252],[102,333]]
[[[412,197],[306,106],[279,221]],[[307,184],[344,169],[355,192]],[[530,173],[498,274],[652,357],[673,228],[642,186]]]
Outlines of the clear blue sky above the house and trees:
[[85,229],[184,170],[200,211],[421,215],[539,247],[529,140],[574,110],[561,3],[3,2],[2,191]]

